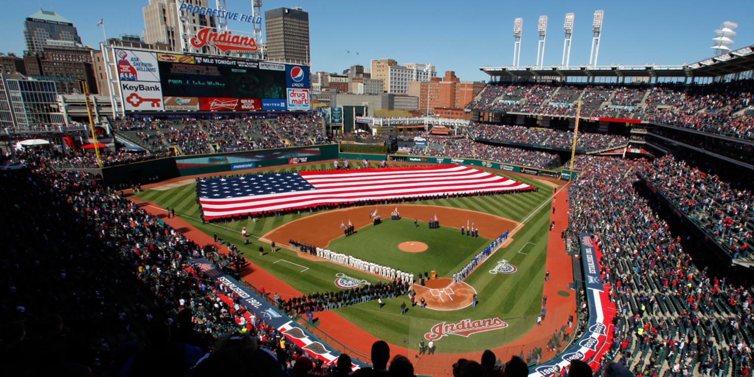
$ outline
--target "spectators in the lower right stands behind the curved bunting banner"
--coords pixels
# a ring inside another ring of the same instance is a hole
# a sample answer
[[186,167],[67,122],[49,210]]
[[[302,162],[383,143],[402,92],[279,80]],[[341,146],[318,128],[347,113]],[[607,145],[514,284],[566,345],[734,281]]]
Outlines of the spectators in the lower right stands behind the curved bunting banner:
[[680,237],[633,186],[636,173],[651,168],[647,161],[581,155],[576,163],[570,230],[593,234],[618,308],[600,371],[618,360],[633,375],[748,375],[751,288],[697,269]]

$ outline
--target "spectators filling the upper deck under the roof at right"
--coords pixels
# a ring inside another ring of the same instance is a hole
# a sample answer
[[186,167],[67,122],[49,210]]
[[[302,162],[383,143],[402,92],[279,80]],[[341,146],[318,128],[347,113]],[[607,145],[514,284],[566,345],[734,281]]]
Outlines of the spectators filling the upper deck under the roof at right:
[[[679,127],[754,139],[754,81],[740,80],[707,85],[653,87],[575,86],[556,84],[488,84],[467,109],[483,112],[528,112],[573,116],[575,102],[582,100],[583,116],[639,118]],[[558,90],[555,93],[555,90]],[[524,104],[505,100],[520,93]],[[554,93],[554,94],[553,94]],[[608,106],[599,110],[602,103]],[[543,103],[547,100],[547,103]],[[645,103],[645,106],[640,106]],[[658,106],[662,106],[659,108]],[[748,114],[746,113],[748,111]]]

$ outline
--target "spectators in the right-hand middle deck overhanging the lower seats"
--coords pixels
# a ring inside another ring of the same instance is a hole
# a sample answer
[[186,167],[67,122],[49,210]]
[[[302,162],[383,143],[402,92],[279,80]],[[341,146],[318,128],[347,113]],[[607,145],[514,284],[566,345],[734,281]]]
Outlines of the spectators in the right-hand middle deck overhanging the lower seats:
[[714,173],[673,155],[654,160],[642,174],[655,189],[715,238],[734,258],[748,258],[754,232],[754,197]]

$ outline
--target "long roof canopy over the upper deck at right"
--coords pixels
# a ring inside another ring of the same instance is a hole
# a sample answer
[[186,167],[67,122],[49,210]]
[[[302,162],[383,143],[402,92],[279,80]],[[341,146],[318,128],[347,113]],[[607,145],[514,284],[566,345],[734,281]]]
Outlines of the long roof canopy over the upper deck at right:
[[525,66],[480,66],[479,69],[490,76],[501,78],[538,78],[538,77],[716,77],[754,70],[754,44],[731,51],[727,54],[710,57],[693,64],[683,66],[576,66],[556,65],[547,67]]

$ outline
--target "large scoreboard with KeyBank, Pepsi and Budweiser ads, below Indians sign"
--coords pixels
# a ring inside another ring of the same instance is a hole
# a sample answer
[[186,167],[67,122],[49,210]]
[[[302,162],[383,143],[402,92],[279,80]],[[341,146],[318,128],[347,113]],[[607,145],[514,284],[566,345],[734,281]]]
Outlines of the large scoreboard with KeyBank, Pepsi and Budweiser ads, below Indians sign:
[[310,109],[309,67],[114,48],[127,112]]

